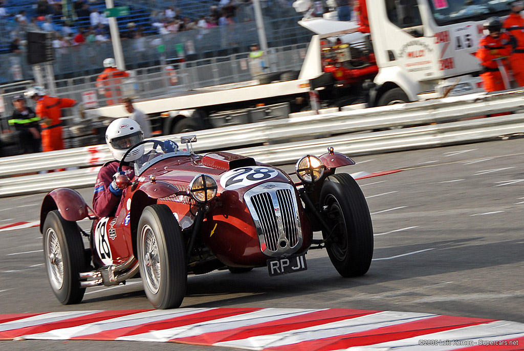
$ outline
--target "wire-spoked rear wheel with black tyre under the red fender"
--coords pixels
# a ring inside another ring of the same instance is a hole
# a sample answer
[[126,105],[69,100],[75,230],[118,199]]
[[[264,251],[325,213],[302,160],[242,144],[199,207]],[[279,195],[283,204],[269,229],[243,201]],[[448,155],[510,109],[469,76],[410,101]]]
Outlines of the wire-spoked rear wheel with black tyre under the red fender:
[[80,287],[79,273],[89,271],[82,235],[75,222],[62,218],[55,210],[43,223],[43,257],[51,289],[64,305],[79,303],[85,288]]

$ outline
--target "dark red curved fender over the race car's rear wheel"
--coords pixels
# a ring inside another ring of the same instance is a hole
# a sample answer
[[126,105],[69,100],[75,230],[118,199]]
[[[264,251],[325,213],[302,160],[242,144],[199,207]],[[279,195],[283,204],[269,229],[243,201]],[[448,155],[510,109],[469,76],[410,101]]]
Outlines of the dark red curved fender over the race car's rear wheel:
[[68,188],[58,188],[49,192],[43,199],[40,209],[40,233],[47,214],[58,210],[66,221],[76,222],[88,217],[89,209],[82,195]]

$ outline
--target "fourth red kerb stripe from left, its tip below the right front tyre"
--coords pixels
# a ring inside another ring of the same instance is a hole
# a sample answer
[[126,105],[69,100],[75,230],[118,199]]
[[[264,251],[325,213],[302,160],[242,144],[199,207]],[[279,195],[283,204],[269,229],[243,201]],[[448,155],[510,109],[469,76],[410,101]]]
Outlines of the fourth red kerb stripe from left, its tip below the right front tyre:
[[173,340],[177,343],[213,345],[218,342],[245,339],[251,336],[282,333],[315,325],[343,321],[377,312],[380,311],[329,309],[325,311],[315,311],[299,316],[293,316],[278,321],[250,325],[247,328],[235,328],[221,332],[206,333],[198,336],[177,338]]

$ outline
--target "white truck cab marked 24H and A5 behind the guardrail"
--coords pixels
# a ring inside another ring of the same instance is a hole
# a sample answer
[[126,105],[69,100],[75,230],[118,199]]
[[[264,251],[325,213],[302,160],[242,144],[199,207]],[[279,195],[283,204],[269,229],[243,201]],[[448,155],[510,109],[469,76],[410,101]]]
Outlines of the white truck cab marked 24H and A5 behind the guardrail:
[[[370,104],[387,105],[484,91],[479,77],[480,62],[474,53],[483,36],[485,19],[507,15],[506,1],[359,2],[355,1],[353,8],[356,21],[346,23],[348,27],[358,27],[355,30],[369,32],[372,41],[378,73]],[[326,18],[333,15],[304,18],[300,24],[321,34],[319,28],[323,25],[311,22],[324,21],[325,28],[332,28],[328,23],[333,20]]]

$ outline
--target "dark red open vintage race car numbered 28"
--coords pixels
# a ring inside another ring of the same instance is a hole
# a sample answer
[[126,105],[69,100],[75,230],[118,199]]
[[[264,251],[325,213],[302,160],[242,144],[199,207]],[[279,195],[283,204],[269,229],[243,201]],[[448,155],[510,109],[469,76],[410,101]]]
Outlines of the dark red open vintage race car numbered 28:
[[[307,269],[309,249],[326,248],[343,277],[364,275],[373,257],[373,227],[361,189],[337,167],[355,164],[341,153],[305,156],[295,183],[282,170],[228,152],[166,152],[144,140],[135,177],[116,180],[124,191],[115,217],[97,218],[81,195],[48,193],[40,231],[51,288],[61,303],[78,303],[86,287],[141,277],[158,309],[176,308],[188,273],[267,267],[270,276]],[[125,159],[125,157],[123,158]],[[121,165],[122,166],[122,165]],[[93,220],[90,233],[76,221]],[[323,239],[313,239],[321,231]],[[82,235],[89,237],[85,249]]]

